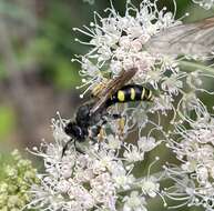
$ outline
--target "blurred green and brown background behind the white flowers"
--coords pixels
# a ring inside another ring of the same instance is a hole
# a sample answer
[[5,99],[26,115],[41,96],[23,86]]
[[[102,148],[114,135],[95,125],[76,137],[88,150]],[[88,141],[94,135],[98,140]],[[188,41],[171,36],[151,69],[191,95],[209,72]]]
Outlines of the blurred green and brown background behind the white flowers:
[[[141,2],[133,0],[136,6]],[[125,0],[113,0],[123,13]],[[173,11],[172,0],[160,0]],[[14,148],[38,145],[42,138],[52,140],[51,118],[60,111],[63,118],[72,118],[82,103],[75,90],[80,84],[78,70],[72,63],[74,54],[83,54],[88,47],[74,42],[82,34],[81,28],[93,20],[93,11],[106,16],[103,10],[109,0],[0,0],[0,153]],[[177,18],[185,12],[186,21],[213,16],[192,3],[177,0]],[[159,204],[159,203],[157,203]],[[157,204],[152,204],[154,208]],[[159,210],[152,209],[152,210]],[[183,209],[181,209],[183,210]],[[195,210],[195,209],[194,209]]]

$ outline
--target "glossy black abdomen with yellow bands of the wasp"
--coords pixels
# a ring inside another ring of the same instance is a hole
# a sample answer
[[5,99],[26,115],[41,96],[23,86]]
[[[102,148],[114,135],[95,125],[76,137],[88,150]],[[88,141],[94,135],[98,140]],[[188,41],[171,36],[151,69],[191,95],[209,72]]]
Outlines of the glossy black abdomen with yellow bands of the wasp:
[[106,105],[110,107],[115,103],[130,101],[151,101],[152,98],[153,93],[151,90],[139,84],[128,84],[111,96],[111,98],[106,101]]

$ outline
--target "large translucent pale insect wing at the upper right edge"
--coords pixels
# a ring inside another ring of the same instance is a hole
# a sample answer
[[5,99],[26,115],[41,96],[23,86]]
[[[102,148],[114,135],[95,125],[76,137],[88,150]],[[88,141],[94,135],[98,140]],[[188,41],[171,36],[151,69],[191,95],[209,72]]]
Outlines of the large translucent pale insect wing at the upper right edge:
[[167,28],[152,37],[145,48],[151,53],[207,56],[214,50],[214,17]]

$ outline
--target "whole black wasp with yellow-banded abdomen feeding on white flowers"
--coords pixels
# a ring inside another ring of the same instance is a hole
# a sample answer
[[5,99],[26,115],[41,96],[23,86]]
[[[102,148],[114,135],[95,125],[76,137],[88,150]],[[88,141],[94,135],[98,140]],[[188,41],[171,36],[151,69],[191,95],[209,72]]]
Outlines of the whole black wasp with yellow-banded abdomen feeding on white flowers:
[[[84,142],[88,138],[94,139],[101,131],[109,118],[119,119],[119,113],[110,114],[108,108],[115,103],[130,101],[151,101],[153,93],[151,90],[139,84],[125,84],[136,73],[136,69],[122,71],[115,79],[109,81],[104,89],[101,89],[92,102],[88,102],[78,109],[75,120],[70,121],[64,127],[64,132],[71,137],[63,148],[64,154],[68,144],[73,141]],[[75,149],[81,152],[80,149]]]

